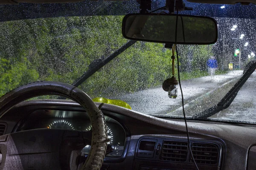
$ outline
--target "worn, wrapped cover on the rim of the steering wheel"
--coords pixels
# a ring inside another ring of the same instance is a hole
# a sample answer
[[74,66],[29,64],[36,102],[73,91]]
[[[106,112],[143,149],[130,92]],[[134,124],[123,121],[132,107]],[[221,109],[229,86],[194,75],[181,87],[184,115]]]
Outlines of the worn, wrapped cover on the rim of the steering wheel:
[[63,82],[38,81],[22,85],[0,98],[0,117],[20,102],[36,96],[59,95],[79,103],[90,117],[92,125],[91,150],[81,170],[100,170],[107,150],[108,133],[102,111],[90,97]]

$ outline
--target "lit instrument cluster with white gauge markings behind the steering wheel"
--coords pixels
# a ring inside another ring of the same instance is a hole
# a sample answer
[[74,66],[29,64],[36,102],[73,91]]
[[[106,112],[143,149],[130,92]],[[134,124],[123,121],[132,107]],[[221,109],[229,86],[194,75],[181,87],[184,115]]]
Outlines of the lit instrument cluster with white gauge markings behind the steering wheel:
[[[125,130],[119,122],[111,117],[104,116],[104,118],[107,124],[108,139],[110,140],[107,144],[114,145],[114,150],[108,153],[107,156],[122,156],[126,139]],[[90,131],[91,127],[90,119],[86,112],[43,109],[29,114],[26,121],[20,125],[16,132],[41,128]],[[87,145],[83,148],[82,153],[87,155],[89,152],[90,145]]]

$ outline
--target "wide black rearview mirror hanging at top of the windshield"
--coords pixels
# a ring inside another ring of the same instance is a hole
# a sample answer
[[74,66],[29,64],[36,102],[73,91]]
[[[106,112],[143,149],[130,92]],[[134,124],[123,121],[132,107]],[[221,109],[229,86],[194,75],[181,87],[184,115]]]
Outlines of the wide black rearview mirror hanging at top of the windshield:
[[[176,19],[176,14],[128,14],[122,22],[122,34],[130,40],[174,44]],[[213,18],[178,15],[177,44],[213,44],[217,39]]]

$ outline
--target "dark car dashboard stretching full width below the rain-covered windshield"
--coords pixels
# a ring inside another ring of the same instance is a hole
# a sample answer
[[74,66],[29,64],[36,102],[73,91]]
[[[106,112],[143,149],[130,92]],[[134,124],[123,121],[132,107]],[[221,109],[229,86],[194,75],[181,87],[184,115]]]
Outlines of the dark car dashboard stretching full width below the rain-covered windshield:
[[[182,119],[152,117],[108,104],[102,112],[108,144],[115,147],[102,170],[196,170],[189,146],[200,170],[255,169],[255,125],[189,120],[188,143]],[[22,102],[0,119],[2,134],[38,128],[90,131],[90,119],[69,100]],[[84,155],[89,151],[90,145],[82,150]]]

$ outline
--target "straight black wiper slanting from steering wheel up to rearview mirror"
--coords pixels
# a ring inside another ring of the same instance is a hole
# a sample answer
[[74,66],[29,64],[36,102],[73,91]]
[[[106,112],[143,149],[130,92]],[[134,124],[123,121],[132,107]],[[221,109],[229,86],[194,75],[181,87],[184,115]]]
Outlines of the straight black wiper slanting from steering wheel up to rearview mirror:
[[127,48],[129,48],[131,45],[133,45],[135,40],[130,40],[126,42],[122,47],[120,47],[118,50],[116,50],[113,54],[109,55],[108,57],[100,57],[99,59],[93,60],[93,62],[90,63],[88,70],[75,82],[73,82],[73,86],[78,87],[81,85],[85,80],[87,80],[91,75],[96,73],[99,69],[101,69],[104,65],[108,64],[112,59],[114,59],[116,56],[121,54],[123,51],[125,51]]

